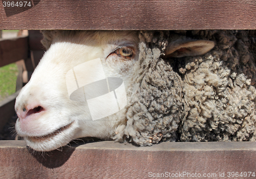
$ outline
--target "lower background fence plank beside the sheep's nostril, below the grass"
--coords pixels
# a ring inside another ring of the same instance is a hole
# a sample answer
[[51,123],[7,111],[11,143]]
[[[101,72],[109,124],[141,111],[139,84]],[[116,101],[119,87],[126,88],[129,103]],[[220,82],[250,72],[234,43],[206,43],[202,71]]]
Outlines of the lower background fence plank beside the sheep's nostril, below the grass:
[[0,130],[3,129],[8,119],[10,119],[15,114],[14,105],[19,92],[20,89],[14,94],[8,96],[3,101],[0,101]]

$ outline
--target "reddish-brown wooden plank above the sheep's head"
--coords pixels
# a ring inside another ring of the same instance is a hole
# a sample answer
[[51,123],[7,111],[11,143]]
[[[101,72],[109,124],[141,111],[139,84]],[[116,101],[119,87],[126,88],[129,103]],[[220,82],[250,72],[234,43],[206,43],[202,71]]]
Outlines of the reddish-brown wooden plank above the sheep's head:
[[256,29],[254,0],[33,0],[32,3],[29,8],[20,9],[4,8],[0,2],[0,29]]

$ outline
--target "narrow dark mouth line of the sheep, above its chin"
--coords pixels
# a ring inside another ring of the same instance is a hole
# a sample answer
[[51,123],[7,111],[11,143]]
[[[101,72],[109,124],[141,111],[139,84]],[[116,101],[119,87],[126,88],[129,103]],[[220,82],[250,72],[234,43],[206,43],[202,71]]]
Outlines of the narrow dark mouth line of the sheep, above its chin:
[[52,133],[49,133],[48,135],[45,136],[28,136],[28,140],[30,140],[31,142],[41,142],[41,141],[45,141],[45,140],[50,140],[53,137],[59,135],[62,131],[67,130],[68,128],[70,128],[70,126],[74,123],[71,122],[70,124],[60,127],[59,129],[55,130]]

